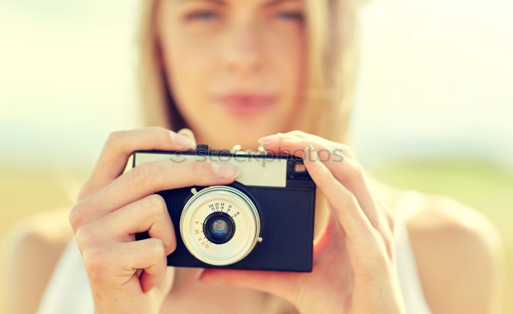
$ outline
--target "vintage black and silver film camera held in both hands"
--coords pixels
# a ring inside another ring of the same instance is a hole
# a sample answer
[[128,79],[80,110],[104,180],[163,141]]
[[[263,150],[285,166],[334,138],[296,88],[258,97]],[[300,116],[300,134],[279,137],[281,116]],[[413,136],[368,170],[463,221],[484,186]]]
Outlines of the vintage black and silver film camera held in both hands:
[[[132,167],[168,159],[228,162],[240,175],[227,185],[160,191],[176,232],[169,266],[312,270],[315,184],[292,155],[211,151],[135,151]],[[136,234],[146,239],[147,232]]]

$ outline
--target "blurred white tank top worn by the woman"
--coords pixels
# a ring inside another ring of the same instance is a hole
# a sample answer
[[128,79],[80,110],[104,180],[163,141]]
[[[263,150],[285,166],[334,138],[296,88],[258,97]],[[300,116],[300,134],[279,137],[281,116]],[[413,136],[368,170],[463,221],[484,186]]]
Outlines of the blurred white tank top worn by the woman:
[[[424,207],[425,196],[405,192],[396,203],[394,230],[397,270],[406,313],[431,314],[424,298],[405,221]],[[48,282],[37,314],[93,314],[94,303],[82,256],[73,239],[65,248]]]

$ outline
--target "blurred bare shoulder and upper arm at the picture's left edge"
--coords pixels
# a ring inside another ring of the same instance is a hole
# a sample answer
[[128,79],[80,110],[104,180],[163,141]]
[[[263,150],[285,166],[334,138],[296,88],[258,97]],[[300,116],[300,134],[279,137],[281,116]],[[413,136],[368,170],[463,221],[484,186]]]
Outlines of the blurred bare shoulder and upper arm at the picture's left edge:
[[66,208],[28,216],[7,231],[2,247],[5,267],[0,276],[4,287],[9,287],[0,303],[5,312],[35,312],[72,235]]

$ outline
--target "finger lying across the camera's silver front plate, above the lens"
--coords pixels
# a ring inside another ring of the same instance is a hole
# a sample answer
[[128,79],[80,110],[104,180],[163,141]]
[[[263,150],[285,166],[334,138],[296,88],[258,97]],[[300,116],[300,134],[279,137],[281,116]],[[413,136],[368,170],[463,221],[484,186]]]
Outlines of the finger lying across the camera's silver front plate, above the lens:
[[73,206],[69,219],[74,230],[107,213],[155,192],[192,185],[209,186],[233,182],[239,170],[228,163],[210,160],[145,162],[109,183],[104,189]]

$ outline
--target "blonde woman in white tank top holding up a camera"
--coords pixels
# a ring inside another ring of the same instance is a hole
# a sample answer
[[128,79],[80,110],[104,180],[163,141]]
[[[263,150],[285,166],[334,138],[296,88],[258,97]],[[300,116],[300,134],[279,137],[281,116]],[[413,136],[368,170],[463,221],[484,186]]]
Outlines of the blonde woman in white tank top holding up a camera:
[[[69,213],[76,244],[57,265],[66,231],[53,237],[55,230],[31,227],[45,217],[18,226],[10,313],[499,311],[495,228],[446,197],[371,179],[344,144],[357,3],[145,0],[143,8],[144,111],[158,127],[109,136]],[[123,170],[134,150],[187,150],[196,142],[305,158],[320,192],[311,273],[166,267],[176,238],[154,193],[227,184],[238,169],[152,162]],[[344,150],[342,162],[316,153],[333,149]],[[134,232],[148,229],[151,239],[134,241]]]

